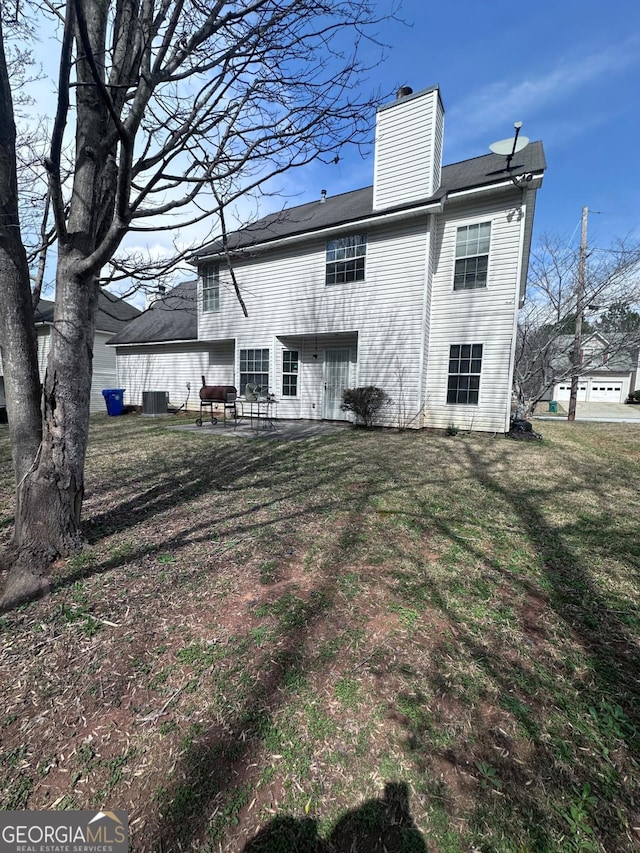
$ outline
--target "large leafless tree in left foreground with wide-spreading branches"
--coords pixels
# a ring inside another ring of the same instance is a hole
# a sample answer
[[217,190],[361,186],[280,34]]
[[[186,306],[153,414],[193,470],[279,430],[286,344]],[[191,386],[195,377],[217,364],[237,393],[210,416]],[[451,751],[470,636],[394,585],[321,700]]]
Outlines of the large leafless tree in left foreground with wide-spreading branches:
[[[59,19],[60,61],[45,158],[56,293],[42,394],[18,216],[15,105],[0,53],[0,344],[16,475],[5,606],[45,588],[51,560],[82,546],[104,269],[113,262],[133,271],[131,259],[116,257],[131,232],[219,222],[224,207],[284,170],[368,141],[378,99],[359,94],[361,47],[375,44],[377,25],[394,14],[384,5],[384,17],[369,0],[43,7]],[[46,243],[46,228],[41,236]]]

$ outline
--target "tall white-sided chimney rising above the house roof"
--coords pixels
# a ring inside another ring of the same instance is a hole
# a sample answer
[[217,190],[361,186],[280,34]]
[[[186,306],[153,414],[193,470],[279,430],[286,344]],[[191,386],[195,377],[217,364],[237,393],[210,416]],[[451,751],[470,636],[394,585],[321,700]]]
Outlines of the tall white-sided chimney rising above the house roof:
[[444,107],[437,86],[413,93],[398,90],[378,109],[373,209],[384,210],[429,198],[440,187]]

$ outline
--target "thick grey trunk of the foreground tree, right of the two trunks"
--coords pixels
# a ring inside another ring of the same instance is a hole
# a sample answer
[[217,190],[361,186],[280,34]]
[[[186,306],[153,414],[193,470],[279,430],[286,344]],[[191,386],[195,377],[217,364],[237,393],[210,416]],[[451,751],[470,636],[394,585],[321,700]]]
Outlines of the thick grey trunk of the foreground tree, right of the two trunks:
[[[70,38],[72,30],[82,24],[86,42],[77,63],[83,85],[76,94],[76,168],[65,211],[59,173],[60,133],[68,109],[69,65],[65,55],[60,76],[64,97],[56,116],[48,165],[58,260],[51,349],[42,395],[42,441],[34,464],[17,486],[16,559],[0,607],[46,589],[53,560],[82,549],[80,517],[98,302],[96,275],[100,271],[100,265],[88,264],[87,258],[103,236],[105,219],[110,220],[114,192],[114,175],[106,174],[109,113],[94,79],[94,74],[100,77],[103,73],[108,9],[109,0],[84,0],[81,5],[66,9],[65,38]],[[100,67],[95,65],[92,48]]]

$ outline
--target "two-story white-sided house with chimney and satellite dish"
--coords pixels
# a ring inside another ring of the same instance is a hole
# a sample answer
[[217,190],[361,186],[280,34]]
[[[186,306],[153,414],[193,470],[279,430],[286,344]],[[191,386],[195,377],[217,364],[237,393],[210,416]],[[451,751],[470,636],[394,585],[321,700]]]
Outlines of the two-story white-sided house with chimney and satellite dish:
[[181,310],[165,298],[111,339],[126,402],[189,383],[197,403],[204,375],[268,386],[279,418],[347,420],[343,390],[377,385],[383,424],[508,431],[542,144],[511,172],[496,154],[442,168],[439,90],[408,91],[378,110],[372,187],[203,247]]

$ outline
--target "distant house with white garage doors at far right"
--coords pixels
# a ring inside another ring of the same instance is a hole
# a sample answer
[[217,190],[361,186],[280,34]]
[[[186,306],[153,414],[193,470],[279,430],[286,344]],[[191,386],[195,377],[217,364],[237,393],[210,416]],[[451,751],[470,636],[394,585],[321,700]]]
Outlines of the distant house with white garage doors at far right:
[[[567,402],[571,393],[570,357],[573,337],[563,336],[564,357],[556,360],[555,369],[565,377],[553,388],[553,399]],[[639,369],[638,345],[628,343],[629,336],[603,335],[593,332],[586,335],[580,349],[580,379],[578,402],[624,403],[637,388]]]

